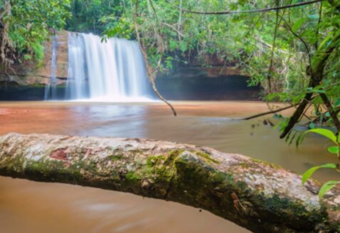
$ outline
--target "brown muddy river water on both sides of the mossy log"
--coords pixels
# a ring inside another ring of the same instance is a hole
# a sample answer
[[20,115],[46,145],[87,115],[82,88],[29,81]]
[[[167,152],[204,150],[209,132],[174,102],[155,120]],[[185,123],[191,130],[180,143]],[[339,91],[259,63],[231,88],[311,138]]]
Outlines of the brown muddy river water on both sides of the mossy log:
[[[142,137],[240,153],[302,173],[333,161],[326,141],[308,137],[296,149],[264,125],[264,118],[233,120],[268,111],[260,102],[175,102],[179,116],[160,103],[0,103],[0,135],[53,133]],[[287,112],[286,112],[287,114]],[[274,120],[273,120],[274,121]],[[323,170],[316,178],[331,180]],[[131,194],[0,177],[1,233],[249,233],[206,211]]]

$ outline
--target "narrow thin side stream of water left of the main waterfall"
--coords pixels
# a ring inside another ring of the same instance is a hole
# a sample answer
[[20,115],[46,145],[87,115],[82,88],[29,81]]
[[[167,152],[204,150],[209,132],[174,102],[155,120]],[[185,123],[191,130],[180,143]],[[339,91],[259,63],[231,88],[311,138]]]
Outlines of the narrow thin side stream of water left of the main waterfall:
[[57,58],[58,58],[58,35],[55,34],[52,37],[52,59],[51,59],[51,77],[50,82],[45,87],[45,100],[56,100],[57,99]]

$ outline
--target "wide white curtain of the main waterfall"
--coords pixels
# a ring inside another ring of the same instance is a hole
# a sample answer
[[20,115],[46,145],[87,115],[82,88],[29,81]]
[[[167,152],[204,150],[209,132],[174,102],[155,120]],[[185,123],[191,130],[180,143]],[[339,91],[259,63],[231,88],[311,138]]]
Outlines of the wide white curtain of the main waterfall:
[[68,33],[66,99],[150,101],[143,56],[134,41]]

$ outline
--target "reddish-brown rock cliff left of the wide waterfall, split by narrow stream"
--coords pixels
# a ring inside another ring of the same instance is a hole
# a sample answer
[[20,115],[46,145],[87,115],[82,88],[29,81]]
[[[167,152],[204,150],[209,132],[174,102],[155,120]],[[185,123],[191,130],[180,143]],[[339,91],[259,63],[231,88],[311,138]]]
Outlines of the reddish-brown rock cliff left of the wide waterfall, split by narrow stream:
[[[58,57],[56,76],[58,84],[65,83],[68,77],[68,32],[58,32]],[[0,69],[0,86],[6,85],[45,85],[51,76],[52,41],[45,45],[45,57],[41,64],[32,63],[13,66],[12,69]]]

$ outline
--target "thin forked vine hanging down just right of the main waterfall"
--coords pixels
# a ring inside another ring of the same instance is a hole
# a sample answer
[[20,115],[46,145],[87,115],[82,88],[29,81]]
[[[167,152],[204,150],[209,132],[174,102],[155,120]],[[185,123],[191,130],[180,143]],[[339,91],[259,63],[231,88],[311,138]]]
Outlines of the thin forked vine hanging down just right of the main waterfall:
[[[136,31],[136,36],[137,36],[137,41],[138,41],[138,45],[139,45],[139,48],[144,56],[144,60],[145,60],[145,64],[146,64],[146,67],[147,67],[147,70],[148,70],[148,74],[149,74],[149,79],[150,79],[150,82],[152,84],[152,87],[153,87],[153,91],[156,93],[156,95],[158,96],[158,98],[160,100],[162,100],[163,102],[165,102],[166,104],[169,105],[169,107],[171,108],[171,111],[173,113],[173,116],[177,116],[177,112],[175,110],[175,108],[172,106],[172,104],[170,102],[168,102],[168,100],[166,100],[160,93],[159,91],[157,90],[157,87],[156,87],[156,84],[154,82],[154,75],[155,75],[155,71],[156,69],[160,66],[160,63],[161,63],[161,60],[162,60],[162,55],[163,55],[163,52],[161,54],[161,57],[158,61],[158,65],[155,69],[153,69],[150,64],[149,64],[149,56],[148,56],[148,53],[146,52],[145,48],[144,48],[144,45],[143,43],[141,42],[141,39],[140,39],[140,35],[139,35],[139,30],[138,30],[138,24],[137,24],[137,14],[138,14],[138,0],[136,0],[136,3],[135,3],[135,12],[134,12],[134,15],[133,15],[133,19],[134,19],[134,24],[135,24],[135,31]],[[157,19],[158,20],[158,19]],[[162,48],[163,45],[162,45]]]

